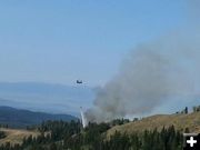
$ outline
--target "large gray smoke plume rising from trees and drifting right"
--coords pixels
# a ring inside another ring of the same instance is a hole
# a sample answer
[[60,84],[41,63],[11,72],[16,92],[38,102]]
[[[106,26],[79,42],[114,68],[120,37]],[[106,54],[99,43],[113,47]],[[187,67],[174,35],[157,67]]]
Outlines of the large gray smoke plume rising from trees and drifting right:
[[109,121],[149,113],[172,98],[194,99],[200,92],[200,30],[188,28],[138,46],[119,73],[97,93],[89,121]]

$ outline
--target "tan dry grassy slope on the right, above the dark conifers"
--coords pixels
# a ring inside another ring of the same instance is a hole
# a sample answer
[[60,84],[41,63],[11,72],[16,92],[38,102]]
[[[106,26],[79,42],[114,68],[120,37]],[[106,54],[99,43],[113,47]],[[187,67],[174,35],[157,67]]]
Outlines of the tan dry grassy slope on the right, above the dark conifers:
[[190,129],[190,132],[200,133],[200,112],[189,114],[157,114],[144,118],[137,122],[130,122],[123,126],[116,126],[108,131],[108,136],[116,131],[131,133],[143,130],[161,130],[163,127],[168,128],[174,126],[178,130]]

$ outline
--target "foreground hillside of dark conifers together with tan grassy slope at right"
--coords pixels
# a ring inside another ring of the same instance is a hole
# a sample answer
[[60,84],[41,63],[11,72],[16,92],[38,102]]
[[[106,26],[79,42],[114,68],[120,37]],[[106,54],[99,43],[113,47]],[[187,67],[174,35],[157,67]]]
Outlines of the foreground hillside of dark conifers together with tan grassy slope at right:
[[24,136],[18,143],[12,140],[2,142],[9,138],[2,130],[0,150],[182,150],[182,133],[200,129],[199,110],[189,113],[184,109],[171,116],[133,121],[116,119],[107,123],[89,123],[86,129],[79,120],[43,121],[28,128],[30,136]]

